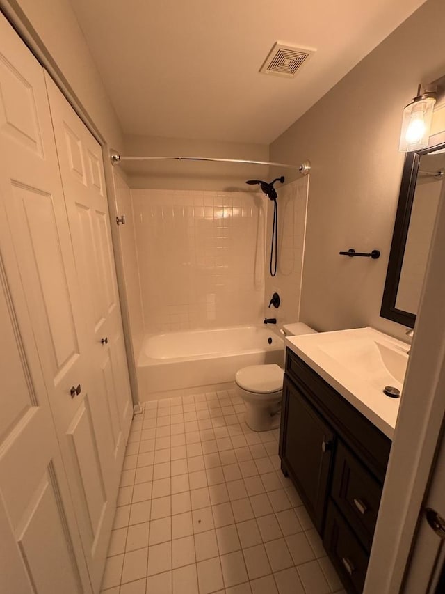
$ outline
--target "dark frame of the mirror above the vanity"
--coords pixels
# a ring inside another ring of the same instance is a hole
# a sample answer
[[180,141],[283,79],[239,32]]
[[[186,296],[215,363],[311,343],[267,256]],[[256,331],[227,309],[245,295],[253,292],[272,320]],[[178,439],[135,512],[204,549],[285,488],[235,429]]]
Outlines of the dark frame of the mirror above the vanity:
[[408,229],[410,228],[412,201],[414,200],[414,192],[416,191],[420,157],[432,153],[432,151],[439,148],[445,148],[445,132],[431,136],[430,143],[426,148],[407,153],[405,164],[403,165],[401,191],[398,196],[396,222],[394,223],[391,251],[389,252],[387,277],[385,280],[385,289],[383,290],[380,315],[382,318],[387,318],[387,320],[392,320],[410,328],[414,328],[416,314],[396,308],[398,283],[401,278],[403,256]]

